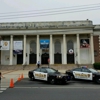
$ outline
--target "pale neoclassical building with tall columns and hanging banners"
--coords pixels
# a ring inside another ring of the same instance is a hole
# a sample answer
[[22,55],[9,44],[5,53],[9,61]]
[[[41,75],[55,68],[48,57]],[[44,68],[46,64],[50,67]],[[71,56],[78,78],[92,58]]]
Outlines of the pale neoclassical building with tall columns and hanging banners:
[[100,25],[90,20],[0,23],[1,65],[99,62]]

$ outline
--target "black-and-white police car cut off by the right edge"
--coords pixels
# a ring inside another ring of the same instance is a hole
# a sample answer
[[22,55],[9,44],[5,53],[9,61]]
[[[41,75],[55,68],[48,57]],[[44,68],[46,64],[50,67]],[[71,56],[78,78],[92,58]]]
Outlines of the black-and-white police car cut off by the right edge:
[[93,68],[80,67],[69,71],[66,74],[70,75],[72,79],[91,80],[100,84],[100,72]]

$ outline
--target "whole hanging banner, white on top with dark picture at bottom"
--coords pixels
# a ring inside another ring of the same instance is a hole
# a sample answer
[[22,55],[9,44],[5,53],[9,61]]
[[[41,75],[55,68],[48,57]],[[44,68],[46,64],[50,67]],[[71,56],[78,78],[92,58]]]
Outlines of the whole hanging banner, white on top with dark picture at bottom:
[[22,41],[14,41],[13,53],[14,54],[22,54],[22,50],[23,50]]

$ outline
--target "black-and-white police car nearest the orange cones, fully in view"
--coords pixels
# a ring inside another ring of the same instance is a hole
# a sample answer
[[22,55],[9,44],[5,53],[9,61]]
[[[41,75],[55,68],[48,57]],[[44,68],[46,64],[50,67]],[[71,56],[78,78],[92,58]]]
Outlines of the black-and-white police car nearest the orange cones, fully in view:
[[63,74],[58,72],[58,70],[55,70],[53,68],[49,67],[40,67],[36,68],[32,71],[28,72],[28,77],[31,80],[43,80],[47,81],[51,84],[55,83],[67,83],[67,81],[70,80],[70,76],[67,74]]

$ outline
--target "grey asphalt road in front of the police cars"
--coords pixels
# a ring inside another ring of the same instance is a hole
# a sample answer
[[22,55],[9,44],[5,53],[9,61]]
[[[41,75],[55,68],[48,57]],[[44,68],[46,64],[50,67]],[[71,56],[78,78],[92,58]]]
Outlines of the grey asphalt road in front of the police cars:
[[73,80],[51,85],[24,78],[0,94],[0,100],[100,100],[100,84]]

